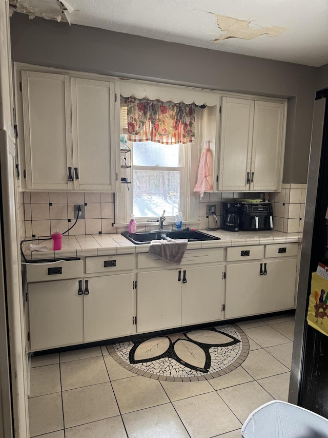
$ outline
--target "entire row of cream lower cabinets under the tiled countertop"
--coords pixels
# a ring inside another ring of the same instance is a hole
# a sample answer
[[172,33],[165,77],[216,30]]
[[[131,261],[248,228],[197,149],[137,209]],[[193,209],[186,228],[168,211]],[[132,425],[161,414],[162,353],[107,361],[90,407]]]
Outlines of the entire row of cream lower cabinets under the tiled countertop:
[[228,247],[225,280],[222,249],[179,269],[148,254],[136,272],[132,254],[30,264],[29,351],[293,309],[297,257],[298,243]]

